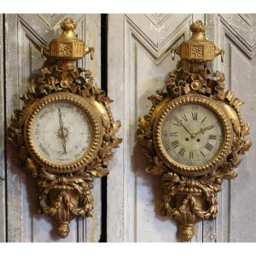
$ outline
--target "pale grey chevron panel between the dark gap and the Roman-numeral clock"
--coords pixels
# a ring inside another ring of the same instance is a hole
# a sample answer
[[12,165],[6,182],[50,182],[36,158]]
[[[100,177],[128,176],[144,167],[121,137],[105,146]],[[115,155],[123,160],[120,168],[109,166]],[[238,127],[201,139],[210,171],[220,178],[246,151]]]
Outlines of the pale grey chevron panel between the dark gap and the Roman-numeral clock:
[[[177,241],[176,224],[160,216],[160,182],[144,172],[146,162],[135,134],[138,117],[151,107],[147,97],[164,85],[167,73],[177,65],[170,49],[189,38],[193,19],[109,15],[108,39],[115,40],[108,43],[108,95],[122,122],[124,142],[108,176],[108,241]],[[199,223],[195,241],[201,240]]]

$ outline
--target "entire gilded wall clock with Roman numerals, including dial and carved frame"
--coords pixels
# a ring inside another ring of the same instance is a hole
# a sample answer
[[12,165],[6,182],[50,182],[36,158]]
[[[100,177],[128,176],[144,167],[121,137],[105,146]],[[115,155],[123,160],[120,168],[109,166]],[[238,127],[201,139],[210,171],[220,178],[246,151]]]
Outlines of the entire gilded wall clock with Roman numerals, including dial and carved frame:
[[224,73],[207,62],[221,55],[205,38],[205,26],[190,26],[192,37],[176,49],[186,68],[169,73],[166,85],[148,99],[153,106],[139,118],[137,140],[163,185],[161,212],[177,220],[181,241],[194,236],[194,224],[216,218],[224,178],[236,177],[240,155],[251,147],[250,125],[241,119],[241,100],[224,90]]

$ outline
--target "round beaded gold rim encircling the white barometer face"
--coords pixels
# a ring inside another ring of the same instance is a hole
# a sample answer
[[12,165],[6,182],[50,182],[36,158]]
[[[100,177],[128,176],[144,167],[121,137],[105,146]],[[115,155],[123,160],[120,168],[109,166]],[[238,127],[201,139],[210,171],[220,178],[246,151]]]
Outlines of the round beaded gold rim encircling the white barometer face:
[[[69,102],[72,103],[79,108],[81,108],[86,115],[88,116],[88,119],[90,120],[90,125],[92,127],[92,140],[90,143],[89,148],[86,152],[84,152],[84,155],[79,158],[77,162],[74,162],[72,164],[67,165],[60,165],[55,164],[42,156],[35,147],[33,143],[33,135],[32,135],[32,127],[33,122],[38,115],[38,113],[41,111],[44,106],[46,106],[49,103],[53,102]],[[35,103],[34,106],[32,106],[32,109],[28,116],[26,117],[26,122],[24,126],[24,136],[25,136],[25,142],[26,147],[28,148],[28,151],[30,154],[32,154],[32,158],[38,162],[39,165],[44,166],[51,172],[75,172],[84,166],[88,165],[91,160],[93,160],[98,153],[99,149],[102,146],[102,122],[99,118],[98,114],[96,113],[96,110],[94,107],[90,104],[89,101],[84,99],[82,96],[74,95],[69,92],[58,92],[55,94],[51,94],[49,96],[45,96],[41,100],[39,100],[37,103]]]

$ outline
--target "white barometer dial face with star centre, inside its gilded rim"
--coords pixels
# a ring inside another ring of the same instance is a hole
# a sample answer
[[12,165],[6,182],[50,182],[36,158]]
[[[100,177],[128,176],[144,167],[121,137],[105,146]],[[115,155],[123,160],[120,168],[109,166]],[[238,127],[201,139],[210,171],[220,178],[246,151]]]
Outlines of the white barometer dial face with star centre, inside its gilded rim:
[[82,108],[73,102],[50,102],[32,124],[35,149],[56,165],[79,161],[90,148],[92,126]]

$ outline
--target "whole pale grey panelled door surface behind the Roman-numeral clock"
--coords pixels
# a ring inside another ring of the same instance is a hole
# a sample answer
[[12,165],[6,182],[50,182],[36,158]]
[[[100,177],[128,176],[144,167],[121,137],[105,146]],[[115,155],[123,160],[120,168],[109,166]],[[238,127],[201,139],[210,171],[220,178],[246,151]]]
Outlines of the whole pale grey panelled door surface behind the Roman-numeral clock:
[[[226,87],[246,102],[244,119],[255,141],[255,15],[108,15],[108,95],[121,120],[124,142],[108,176],[108,241],[177,241],[177,225],[160,216],[157,177],[144,172],[146,162],[135,133],[137,119],[148,113],[147,97],[161,88],[177,66],[170,49],[190,37],[192,21],[207,25],[207,37],[226,54]],[[218,195],[218,218],[196,225],[193,241],[255,241],[255,146],[245,155],[235,181]],[[254,156],[254,157],[253,157]]]

